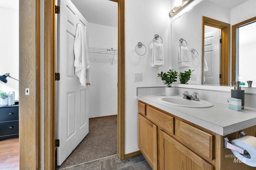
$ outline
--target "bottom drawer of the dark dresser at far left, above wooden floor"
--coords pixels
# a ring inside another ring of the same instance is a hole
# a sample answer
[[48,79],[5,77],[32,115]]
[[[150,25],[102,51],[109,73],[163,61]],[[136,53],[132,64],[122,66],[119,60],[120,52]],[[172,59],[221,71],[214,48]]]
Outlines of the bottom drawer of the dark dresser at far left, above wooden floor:
[[19,133],[19,121],[7,121],[0,123],[0,136]]

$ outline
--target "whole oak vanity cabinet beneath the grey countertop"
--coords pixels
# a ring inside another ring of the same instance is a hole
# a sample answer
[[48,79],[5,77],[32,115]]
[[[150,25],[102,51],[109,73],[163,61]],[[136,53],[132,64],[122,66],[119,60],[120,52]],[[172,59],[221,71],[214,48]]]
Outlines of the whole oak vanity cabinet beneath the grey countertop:
[[[256,125],[242,131],[255,137]],[[223,149],[224,137],[239,131],[222,136],[138,101],[138,147],[153,170],[256,170]]]

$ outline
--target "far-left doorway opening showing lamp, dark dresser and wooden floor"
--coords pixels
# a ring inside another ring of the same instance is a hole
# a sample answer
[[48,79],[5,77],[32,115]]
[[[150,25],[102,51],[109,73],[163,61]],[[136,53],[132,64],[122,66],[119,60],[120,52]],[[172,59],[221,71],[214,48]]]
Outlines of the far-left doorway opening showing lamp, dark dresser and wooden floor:
[[7,82],[0,81],[0,169],[18,169],[19,0],[1,0],[0,19],[0,75],[7,76],[1,76],[1,80],[6,77]]

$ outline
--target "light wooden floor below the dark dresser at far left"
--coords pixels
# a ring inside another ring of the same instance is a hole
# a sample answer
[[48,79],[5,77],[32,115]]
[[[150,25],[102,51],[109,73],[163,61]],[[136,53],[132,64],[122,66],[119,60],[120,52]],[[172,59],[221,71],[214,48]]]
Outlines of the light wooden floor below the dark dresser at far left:
[[18,170],[19,159],[18,137],[0,141],[0,170]]

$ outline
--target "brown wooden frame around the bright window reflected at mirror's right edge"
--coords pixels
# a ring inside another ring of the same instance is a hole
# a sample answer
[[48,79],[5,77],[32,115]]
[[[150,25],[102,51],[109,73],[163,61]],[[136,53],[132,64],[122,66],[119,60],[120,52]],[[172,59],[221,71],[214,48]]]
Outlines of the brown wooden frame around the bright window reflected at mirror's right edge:
[[231,70],[231,81],[236,81],[236,29],[242,25],[248,24],[255,21],[256,17],[250,18],[248,20],[242,21],[235,25],[232,25],[232,70]]

